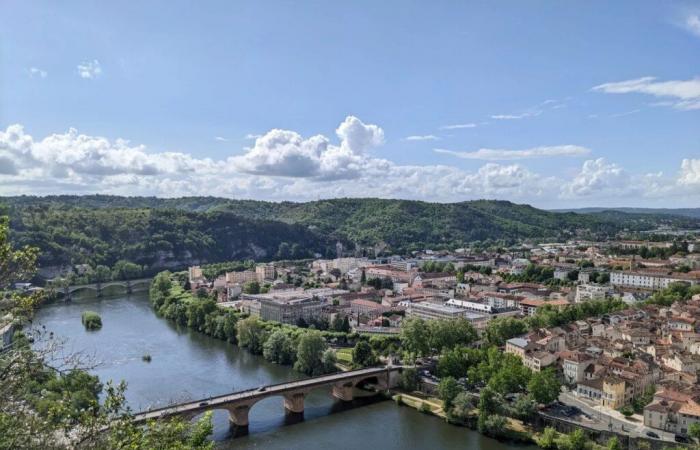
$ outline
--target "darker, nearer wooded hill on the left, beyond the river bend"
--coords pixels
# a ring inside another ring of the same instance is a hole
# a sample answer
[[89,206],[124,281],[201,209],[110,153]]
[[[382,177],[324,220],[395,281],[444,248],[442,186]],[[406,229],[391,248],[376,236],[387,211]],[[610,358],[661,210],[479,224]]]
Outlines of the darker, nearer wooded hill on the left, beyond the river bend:
[[301,225],[227,211],[122,208],[111,199],[111,205],[99,207],[85,197],[71,206],[57,199],[18,199],[12,205],[12,240],[40,248],[41,265],[102,265],[113,267],[119,279],[141,276],[142,267],[153,273],[151,268],[164,263],[244,260],[259,258],[260,251],[273,258],[282,242],[296,244],[300,258],[330,248],[325,237]]

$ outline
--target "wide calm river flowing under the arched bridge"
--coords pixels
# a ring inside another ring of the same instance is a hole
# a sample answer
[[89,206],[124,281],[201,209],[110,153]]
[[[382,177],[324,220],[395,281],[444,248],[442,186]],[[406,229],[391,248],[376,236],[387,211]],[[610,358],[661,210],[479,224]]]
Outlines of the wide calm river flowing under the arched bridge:
[[[101,330],[88,332],[81,325],[80,315],[88,309],[102,316]],[[99,362],[92,372],[103,382],[125,380],[127,401],[135,411],[301,377],[289,367],[173,325],[154,313],[145,295],[46,305],[37,312],[35,324],[65,340],[66,350]],[[142,360],[144,354],[151,355],[150,363]],[[323,390],[307,397],[304,421],[294,425],[285,423],[281,398],[257,403],[249,431],[232,439],[227,413],[214,414],[214,439],[226,449],[534,448],[503,444],[391,401],[344,405]]]

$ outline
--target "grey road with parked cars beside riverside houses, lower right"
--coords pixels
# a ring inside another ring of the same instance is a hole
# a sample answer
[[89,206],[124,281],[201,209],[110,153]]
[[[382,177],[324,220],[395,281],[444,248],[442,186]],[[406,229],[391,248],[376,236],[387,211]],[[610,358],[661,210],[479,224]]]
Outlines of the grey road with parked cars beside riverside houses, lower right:
[[622,432],[632,437],[644,437],[647,439],[649,439],[647,432],[653,432],[658,434],[661,440],[675,444],[675,435],[673,433],[645,426],[643,417],[639,414],[632,416],[633,419],[627,419],[619,411],[596,405],[588,399],[577,397],[571,392],[562,392],[559,395],[559,401],[565,405],[576,406],[595,419],[597,424],[593,426],[594,428]]

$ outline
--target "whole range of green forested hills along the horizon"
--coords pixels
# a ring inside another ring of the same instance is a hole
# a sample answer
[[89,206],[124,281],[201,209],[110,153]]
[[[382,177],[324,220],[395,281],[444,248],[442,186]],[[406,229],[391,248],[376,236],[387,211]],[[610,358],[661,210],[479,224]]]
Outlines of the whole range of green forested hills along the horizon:
[[475,241],[599,238],[660,225],[700,227],[682,214],[617,210],[554,212],[507,201],[429,203],[339,198],[305,203],[217,197],[17,196],[8,206],[12,238],[37,245],[42,265],[152,268],[231,259],[301,258],[346,248],[386,251],[457,248]]

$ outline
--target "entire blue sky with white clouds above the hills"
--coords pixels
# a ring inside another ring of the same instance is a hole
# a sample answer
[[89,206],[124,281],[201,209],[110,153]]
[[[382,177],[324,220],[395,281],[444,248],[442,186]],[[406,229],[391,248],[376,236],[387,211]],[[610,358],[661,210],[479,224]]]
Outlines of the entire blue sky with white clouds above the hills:
[[0,3],[0,195],[700,207],[700,1]]

